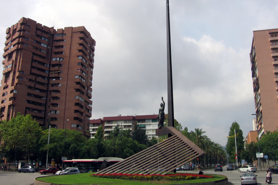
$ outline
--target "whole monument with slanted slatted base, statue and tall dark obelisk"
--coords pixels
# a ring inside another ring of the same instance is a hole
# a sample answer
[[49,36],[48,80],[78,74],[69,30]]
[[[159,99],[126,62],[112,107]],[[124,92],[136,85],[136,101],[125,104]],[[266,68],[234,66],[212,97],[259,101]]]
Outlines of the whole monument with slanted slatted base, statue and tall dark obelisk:
[[[168,138],[129,158],[109,166],[96,174],[126,173],[126,174],[167,174],[179,166],[204,154],[204,151],[174,128],[173,83],[170,41],[169,0],[167,3],[167,97],[168,97],[168,127],[164,127],[164,107],[162,101],[159,108],[158,128],[156,135],[168,135]],[[162,123],[161,123],[162,122]]]

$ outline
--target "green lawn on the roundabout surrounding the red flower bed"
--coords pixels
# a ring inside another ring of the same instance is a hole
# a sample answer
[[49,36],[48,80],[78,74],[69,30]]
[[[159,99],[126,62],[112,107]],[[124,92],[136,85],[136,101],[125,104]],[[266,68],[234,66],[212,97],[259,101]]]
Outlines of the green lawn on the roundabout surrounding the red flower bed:
[[222,175],[213,175],[214,178],[208,179],[194,179],[185,181],[129,181],[122,179],[107,179],[90,177],[92,173],[80,173],[73,175],[53,175],[47,177],[37,178],[37,181],[45,183],[63,184],[63,185],[177,185],[177,184],[193,184],[206,183],[212,181],[222,180],[225,177]]

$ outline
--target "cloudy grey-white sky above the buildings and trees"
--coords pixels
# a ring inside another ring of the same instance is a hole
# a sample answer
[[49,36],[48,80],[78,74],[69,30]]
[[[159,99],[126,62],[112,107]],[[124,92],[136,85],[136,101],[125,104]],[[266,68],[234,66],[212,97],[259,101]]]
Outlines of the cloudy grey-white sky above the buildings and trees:
[[[169,0],[174,118],[183,128],[222,146],[234,121],[243,137],[253,129],[249,53],[253,31],[278,27],[276,2]],[[158,114],[162,96],[167,104],[166,0],[2,0],[0,17],[1,56],[6,29],[22,17],[85,26],[96,41],[92,119]]]

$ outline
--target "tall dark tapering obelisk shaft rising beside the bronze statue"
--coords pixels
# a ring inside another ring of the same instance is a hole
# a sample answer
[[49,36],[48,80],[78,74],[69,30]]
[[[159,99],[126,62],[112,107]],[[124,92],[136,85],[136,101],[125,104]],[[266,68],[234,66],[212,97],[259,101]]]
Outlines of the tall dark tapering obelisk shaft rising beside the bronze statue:
[[173,79],[172,79],[172,58],[170,38],[170,13],[169,0],[166,0],[167,7],[167,92],[168,92],[168,127],[174,127],[174,103],[173,103]]

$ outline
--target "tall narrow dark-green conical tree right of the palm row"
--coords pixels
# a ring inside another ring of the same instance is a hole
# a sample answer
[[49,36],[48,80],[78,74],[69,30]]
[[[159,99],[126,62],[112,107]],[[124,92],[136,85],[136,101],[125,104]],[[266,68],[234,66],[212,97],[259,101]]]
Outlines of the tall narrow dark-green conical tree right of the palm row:
[[[236,157],[236,143],[235,143],[235,129],[236,129],[236,137],[237,137],[237,151],[243,151],[244,149],[244,141],[243,141],[243,133],[240,128],[240,125],[237,122],[233,122],[228,136],[228,141],[226,144],[226,151],[229,154],[229,162],[234,163]],[[238,155],[238,160],[240,160],[240,156]]]

